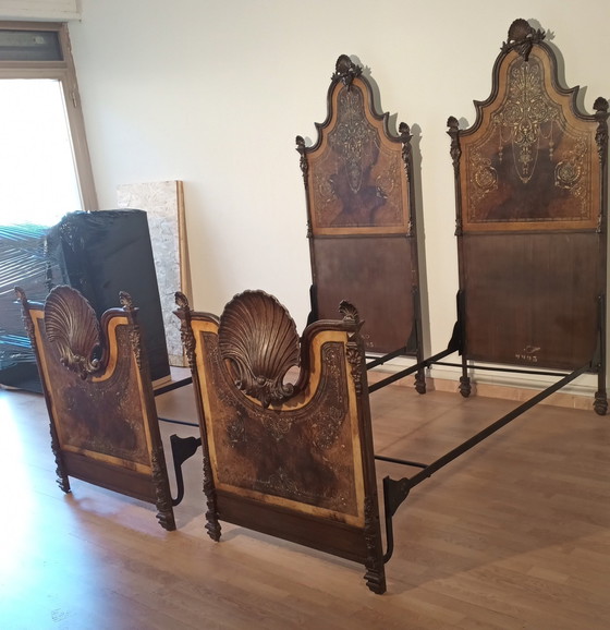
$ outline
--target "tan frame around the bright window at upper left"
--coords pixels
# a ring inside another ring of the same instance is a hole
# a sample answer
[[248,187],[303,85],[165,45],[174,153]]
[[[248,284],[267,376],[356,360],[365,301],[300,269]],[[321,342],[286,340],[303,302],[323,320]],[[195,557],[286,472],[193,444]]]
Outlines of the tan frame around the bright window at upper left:
[[58,33],[62,61],[2,61],[0,60],[0,80],[2,78],[50,78],[58,80],[63,90],[65,112],[76,179],[83,209],[98,209],[97,194],[85,134],[85,120],[81,108],[76,70],[72,59],[72,47],[65,23],[48,22],[5,22],[0,21],[0,31],[30,31]]

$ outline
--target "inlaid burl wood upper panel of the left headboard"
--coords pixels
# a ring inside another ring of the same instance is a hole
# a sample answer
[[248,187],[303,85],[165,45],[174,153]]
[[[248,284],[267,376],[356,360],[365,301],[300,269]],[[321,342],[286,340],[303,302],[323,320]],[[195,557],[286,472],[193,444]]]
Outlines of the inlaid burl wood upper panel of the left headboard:
[[330,119],[308,154],[314,234],[401,233],[408,222],[408,190],[402,146],[390,140],[386,120],[370,111],[362,77],[337,83]]

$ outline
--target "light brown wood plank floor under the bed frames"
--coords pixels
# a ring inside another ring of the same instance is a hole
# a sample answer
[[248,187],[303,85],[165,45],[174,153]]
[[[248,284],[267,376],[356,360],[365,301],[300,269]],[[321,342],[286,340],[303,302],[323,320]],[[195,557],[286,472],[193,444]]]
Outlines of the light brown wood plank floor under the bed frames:
[[[192,396],[161,397],[160,415],[195,421]],[[377,452],[419,461],[514,405],[403,386],[371,402]],[[200,470],[199,451],[170,533],[152,506],[78,481],[63,495],[42,398],[0,390],[0,627],[610,628],[610,416],[539,405],[417,486],[395,517],[385,595],[359,565],[241,528],[213,543]],[[378,464],[386,474],[407,470]]]

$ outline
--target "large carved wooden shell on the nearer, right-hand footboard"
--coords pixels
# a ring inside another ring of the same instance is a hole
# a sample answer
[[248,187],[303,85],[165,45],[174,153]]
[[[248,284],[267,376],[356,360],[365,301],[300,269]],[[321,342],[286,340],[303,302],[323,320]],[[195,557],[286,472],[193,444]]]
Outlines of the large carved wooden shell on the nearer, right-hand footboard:
[[220,317],[218,344],[235,385],[263,407],[279,403],[294,391],[286,372],[300,363],[296,325],[288,311],[264,291],[235,295]]

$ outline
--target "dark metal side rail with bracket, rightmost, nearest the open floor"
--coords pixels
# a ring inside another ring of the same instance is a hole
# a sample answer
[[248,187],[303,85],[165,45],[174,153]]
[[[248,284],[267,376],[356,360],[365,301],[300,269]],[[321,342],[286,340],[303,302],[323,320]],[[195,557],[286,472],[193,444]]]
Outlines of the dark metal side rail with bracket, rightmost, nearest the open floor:
[[[386,543],[387,543],[387,552],[383,556],[383,561],[387,562],[391,557],[394,549],[394,534],[393,534],[393,526],[392,526],[392,517],[401,506],[401,504],[406,499],[408,493],[412,488],[416,485],[420,484],[424,480],[427,480],[435,472],[447,465],[448,463],[452,462],[454,459],[460,457],[461,455],[468,451],[471,448],[509,424],[515,417],[518,417],[540,401],[548,398],[551,393],[560,390],[562,387],[584,374],[585,372],[590,372],[591,366],[590,363],[587,363],[583,367],[575,369],[571,374],[568,374],[557,383],[552,384],[551,386],[547,387],[536,396],[533,396],[529,400],[526,400],[523,404],[520,404],[517,408],[513,409],[513,411],[507,413],[492,424],[490,424],[487,428],[484,428],[460,446],[455,447],[454,449],[450,450],[448,453],[443,455],[432,463],[428,465],[424,464],[416,464],[415,462],[411,465],[416,465],[417,468],[422,468],[423,470],[412,477],[403,477],[399,481],[392,480],[389,476],[383,478],[383,507],[385,507],[385,516],[386,516]],[[378,458],[381,459],[381,458]],[[391,461],[390,458],[387,458],[386,461]],[[395,460],[396,463],[402,463],[401,460]]]

